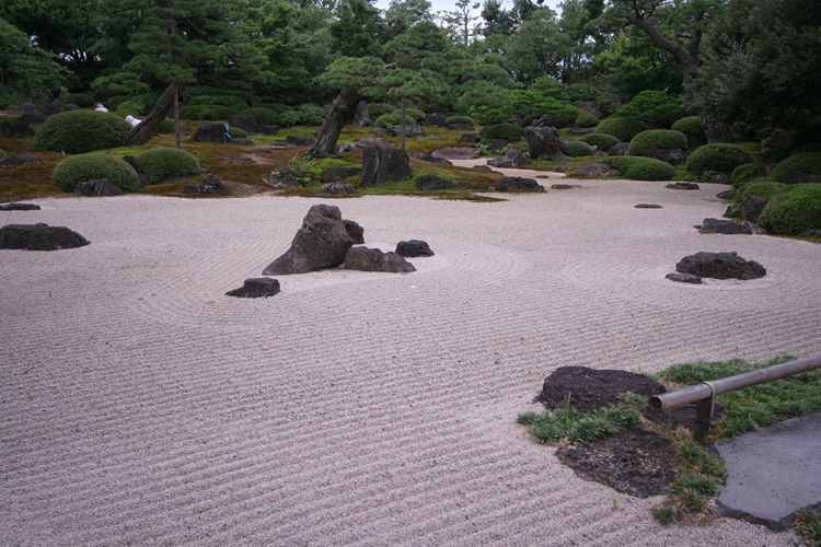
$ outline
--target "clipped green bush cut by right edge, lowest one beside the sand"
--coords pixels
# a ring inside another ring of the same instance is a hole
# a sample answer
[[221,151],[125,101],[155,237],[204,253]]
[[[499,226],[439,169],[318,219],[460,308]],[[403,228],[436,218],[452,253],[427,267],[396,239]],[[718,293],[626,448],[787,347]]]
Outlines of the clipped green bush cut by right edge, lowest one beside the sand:
[[821,230],[821,184],[798,184],[776,193],[761,211],[759,225],[779,235]]

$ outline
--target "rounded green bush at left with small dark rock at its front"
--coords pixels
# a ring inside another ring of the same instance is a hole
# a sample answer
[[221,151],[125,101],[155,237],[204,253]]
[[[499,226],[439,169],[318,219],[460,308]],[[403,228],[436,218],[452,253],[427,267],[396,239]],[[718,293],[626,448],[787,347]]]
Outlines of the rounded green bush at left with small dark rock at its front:
[[66,158],[51,172],[51,182],[62,191],[74,191],[77,185],[95,178],[107,178],[124,191],[136,191],[140,177],[128,163],[113,155],[91,153]]

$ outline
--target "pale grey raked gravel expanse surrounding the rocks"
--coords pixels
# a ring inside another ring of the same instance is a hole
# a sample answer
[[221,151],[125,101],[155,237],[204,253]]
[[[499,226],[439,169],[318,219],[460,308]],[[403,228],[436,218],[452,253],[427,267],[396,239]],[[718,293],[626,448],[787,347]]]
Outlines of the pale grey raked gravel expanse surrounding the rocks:
[[[147,196],[37,201],[91,245],[0,251],[0,545],[794,545],[663,527],[514,423],[560,365],[652,372],[821,352],[821,245],[701,235],[719,186],[577,182],[498,203]],[[310,206],[409,275],[280,276]],[[636,203],[662,209],[635,209]],[[698,251],[753,281],[664,279]]]

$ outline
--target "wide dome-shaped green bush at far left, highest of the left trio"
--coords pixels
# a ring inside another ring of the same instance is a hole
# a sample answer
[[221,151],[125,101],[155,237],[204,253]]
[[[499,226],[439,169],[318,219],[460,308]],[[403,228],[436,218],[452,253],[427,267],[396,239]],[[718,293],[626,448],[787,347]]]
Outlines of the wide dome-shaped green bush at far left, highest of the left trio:
[[68,110],[46,118],[34,136],[34,148],[83,154],[128,144],[130,130],[131,126],[116,114]]

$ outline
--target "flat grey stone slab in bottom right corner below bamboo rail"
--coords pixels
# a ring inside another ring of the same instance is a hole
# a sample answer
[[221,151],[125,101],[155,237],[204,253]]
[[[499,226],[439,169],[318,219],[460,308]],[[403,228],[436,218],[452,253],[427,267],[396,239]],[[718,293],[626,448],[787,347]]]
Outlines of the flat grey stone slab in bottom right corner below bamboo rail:
[[799,509],[821,505],[821,412],[718,441],[727,484],[722,514],[783,531]]

